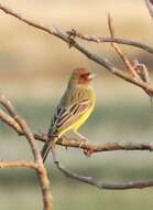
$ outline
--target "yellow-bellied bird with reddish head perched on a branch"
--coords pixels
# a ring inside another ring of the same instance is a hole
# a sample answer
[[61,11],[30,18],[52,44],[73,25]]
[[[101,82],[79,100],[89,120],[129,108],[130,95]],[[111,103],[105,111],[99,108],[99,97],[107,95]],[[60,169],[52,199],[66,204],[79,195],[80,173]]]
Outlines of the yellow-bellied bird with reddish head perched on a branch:
[[87,138],[77,130],[95,108],[96,94],[91,85],[95,75],[85,67],[73,71],[67,88],[55,109],[47,134],[48,140],[41,151],[43,162],[58,138],[70,130],[80,138],[80,144],[87,141]]

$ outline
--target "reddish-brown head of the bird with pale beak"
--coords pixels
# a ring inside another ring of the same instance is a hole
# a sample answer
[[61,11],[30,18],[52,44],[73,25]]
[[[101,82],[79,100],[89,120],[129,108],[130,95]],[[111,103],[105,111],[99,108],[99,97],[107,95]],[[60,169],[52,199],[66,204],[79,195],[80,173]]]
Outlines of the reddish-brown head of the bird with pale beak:
[[95,77],[95,74],[88,71],[84,67],[77,67],[74,70],[70,80],[69,85],[90,85],[92,78]]

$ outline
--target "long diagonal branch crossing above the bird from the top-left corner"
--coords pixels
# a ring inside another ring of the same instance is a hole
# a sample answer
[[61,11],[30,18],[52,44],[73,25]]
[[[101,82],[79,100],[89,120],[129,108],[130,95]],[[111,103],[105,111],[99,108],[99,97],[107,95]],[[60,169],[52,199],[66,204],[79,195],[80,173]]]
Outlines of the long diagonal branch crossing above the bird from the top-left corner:
[[[15,12],[11,11],[10,9],[6,8],[4,6],[2,6],[0,3],[0,10],[4,11],[6,13],[19,19],[20,21],[25,22],[29,25],[32,25],[36,29],[40,29],[42,31],[45,31],[52,35],[55,35],[57,38],[59,38],[61,40],[63,40],[66,43],[70,43],[70,46],[74,46],[75,49],[77,49],[79,52],[81,52],[83,54],[85,54],[89,60],[95,61],[96,63],[100,64],[101,66],[106,67],[107,70],[109,70],[112,74],[117,75],[120,78],[123,78],[124,81],[128,81],[141,88],[143,88],[149,95],[153,95],[153,86],[150,84],[146,84],[142,81],[136,81],[134,80],[132,76],[128,75],[127,73],[122,72],[121,70],[119,70],[118,67],[116,67],[110,61],[108,61],[107,59],[103,59],[92,52],[90,52],[89,50],[87,50],[84,45],[81,45],[79,42],[77,42],[75,39],[73,39],[68,33],[66,33],[65,31],[58,29],[57,27],[54,27],[54,31],[43,27],[39,23],[35,23],[33,21],[26,20],[24,18],[22,18],[20,14],[17,14]],[[135,43],[135,46],[143,46],[143,44],[139,44]],[[149,46],[150,48],[150,46]],[[147,48],[147,50],[149,50]],[[143,50],[145,50],[146,48],[144,48]],[[153,49],[150,49],[150,51],[152,51],[153,53]]]

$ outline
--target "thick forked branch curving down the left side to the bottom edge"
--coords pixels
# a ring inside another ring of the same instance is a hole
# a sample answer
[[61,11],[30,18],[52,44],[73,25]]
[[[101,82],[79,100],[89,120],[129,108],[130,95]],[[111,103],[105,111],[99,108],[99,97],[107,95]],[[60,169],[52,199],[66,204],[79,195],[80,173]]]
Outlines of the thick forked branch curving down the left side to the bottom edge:
[[42,190],[44,210],[52,210],[53,202],[52,202],[50,181],[48,181],[46,169],[43,165],[41,153],[36,145],[35,138],[33,137],[33,134],[30,127],[28,126],[28,124],[25,123],[25,120],[18,115],[18,112],[15,111],[11,102],[2,93],[0,93],[0,104],[10,114],[10,117],[9,117],[7,113],[2,111],[0,112],[0,117],[3,119],[3,122],[8,123],[8,125],[13,127],[19,134],[24,135],[26,139],[29,140],[29,144],[31,146],[31,150],[34,157],[34,161],[37,165],[35,170],[36,170],[41,190]]

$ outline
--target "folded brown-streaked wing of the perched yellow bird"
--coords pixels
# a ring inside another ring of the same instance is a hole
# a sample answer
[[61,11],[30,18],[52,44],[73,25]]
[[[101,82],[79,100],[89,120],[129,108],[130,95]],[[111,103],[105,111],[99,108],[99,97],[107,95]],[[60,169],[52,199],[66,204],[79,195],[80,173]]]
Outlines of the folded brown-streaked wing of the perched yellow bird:
[[66,129],[79,119],[90,107],[92,102],[90,99],[83,99],[76,102],[69,107],[58,106],[51,125],[51,135],[56,135],[61,130]]

